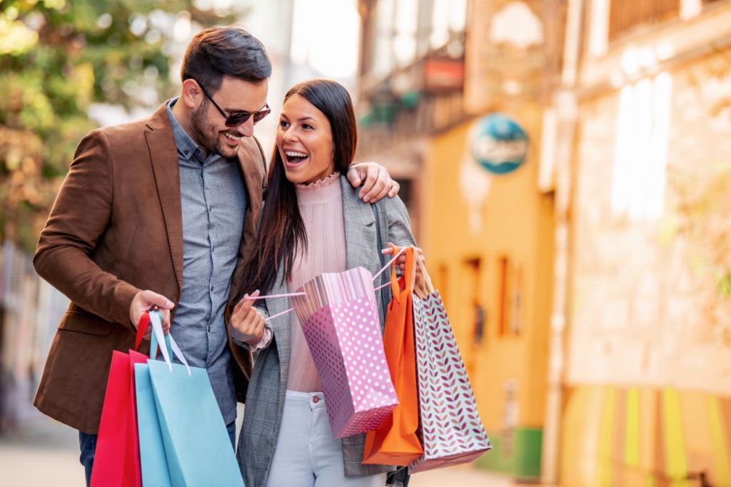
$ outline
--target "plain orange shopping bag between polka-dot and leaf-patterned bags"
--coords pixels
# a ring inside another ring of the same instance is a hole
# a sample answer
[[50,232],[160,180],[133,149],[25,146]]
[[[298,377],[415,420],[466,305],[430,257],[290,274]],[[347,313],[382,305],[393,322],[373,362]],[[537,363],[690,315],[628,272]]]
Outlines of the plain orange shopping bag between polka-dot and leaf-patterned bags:
[[[397,253],[398,249],[394,248],[393,254]],[[404,254],[406,268],[401,279],[396,279],[396,264],[393,264],[393,299],[388,305],[383,335],[388,369],[399,404],[381,426],[366,434],[364,464],[408,465],[424,451],[417,437],[419,404],[412,303],[415,278],[413,247],[406,249]]]

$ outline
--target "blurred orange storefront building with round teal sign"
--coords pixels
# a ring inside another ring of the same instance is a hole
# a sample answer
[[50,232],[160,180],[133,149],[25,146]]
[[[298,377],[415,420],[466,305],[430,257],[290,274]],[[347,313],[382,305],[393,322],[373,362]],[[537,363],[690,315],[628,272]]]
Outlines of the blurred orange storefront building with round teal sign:
[[553,195],[537,180],[561,10],[543,3],[360,2],[362,158],[408,188],[495,448],[479,464],[526,480],[541,470],[553,280]]

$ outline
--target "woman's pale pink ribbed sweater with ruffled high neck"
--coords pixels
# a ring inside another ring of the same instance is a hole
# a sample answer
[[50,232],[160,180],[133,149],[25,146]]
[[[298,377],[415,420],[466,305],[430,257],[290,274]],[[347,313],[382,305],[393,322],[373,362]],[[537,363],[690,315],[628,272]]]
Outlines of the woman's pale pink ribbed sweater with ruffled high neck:
[[[324,272],[345,271],[345,223],[340,173],[313,184],[297,185],[300,215],[307,232],[307,249],[295,257],[287,290],[295,292]],[[287,389],[319,392],[322,385],[297,314],[292,320],[292,356],[289,360]]]

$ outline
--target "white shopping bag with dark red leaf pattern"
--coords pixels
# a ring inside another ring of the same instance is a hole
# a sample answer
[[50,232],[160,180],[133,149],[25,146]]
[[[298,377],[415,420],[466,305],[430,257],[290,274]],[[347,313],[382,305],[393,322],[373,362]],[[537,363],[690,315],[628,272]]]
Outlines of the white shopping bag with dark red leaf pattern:
[[439,292],[414,297],[414,331],[423,456],[409,473],[474,461],[492,447]]

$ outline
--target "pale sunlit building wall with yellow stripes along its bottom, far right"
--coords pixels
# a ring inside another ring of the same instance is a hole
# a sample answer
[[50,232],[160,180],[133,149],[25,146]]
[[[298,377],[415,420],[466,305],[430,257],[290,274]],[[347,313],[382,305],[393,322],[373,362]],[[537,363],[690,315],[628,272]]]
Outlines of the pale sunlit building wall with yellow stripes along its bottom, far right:
[[559,478],[731,486],[731,4],[576,4]]

